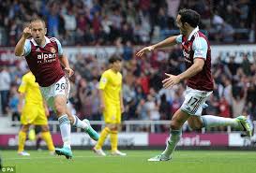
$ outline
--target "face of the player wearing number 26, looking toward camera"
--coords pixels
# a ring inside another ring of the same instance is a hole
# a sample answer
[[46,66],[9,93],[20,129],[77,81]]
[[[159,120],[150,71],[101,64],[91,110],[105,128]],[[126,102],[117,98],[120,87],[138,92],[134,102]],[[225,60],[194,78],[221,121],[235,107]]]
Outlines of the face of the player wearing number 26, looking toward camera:
[[44,36],[46,35],[46,28],[43,22],[32,22],[31,23],[31,35],[38,43],[41,44]]

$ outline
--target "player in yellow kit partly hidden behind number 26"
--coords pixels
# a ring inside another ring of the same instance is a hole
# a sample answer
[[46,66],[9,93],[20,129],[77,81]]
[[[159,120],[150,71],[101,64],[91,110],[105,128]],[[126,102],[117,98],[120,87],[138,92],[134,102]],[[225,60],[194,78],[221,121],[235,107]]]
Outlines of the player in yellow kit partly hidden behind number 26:
[[23,126],[19,133],[18,154],[24,156],[30,155],[28,152],[24,151],[24,143],[31,124],[41,126],[41,136],[45,140],[49,151],[54,153],[53,139],[49,131],[46,117],[49,115],[49,111],[40,93],[36,78],[31,72],[23,75],[22,84],[19,87],[19,93],[20,98],[18,109],[22,112],[21,123]]

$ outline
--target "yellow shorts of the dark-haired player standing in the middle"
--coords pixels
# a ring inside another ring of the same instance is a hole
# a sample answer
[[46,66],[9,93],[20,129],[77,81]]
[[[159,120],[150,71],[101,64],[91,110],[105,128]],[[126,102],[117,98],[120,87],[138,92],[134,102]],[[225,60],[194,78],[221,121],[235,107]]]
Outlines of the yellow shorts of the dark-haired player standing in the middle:
[[106,105],[103,111],[105,123],[121,123],[121,108],[113,105]]

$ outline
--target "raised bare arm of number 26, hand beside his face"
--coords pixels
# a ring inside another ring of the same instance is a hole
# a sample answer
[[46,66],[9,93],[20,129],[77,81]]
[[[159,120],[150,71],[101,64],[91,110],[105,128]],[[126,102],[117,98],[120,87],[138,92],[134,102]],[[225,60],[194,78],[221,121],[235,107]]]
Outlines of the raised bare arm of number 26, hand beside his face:
[[29,27],[24,28],[23,30],[23,36],[18,41],[17,45],[15,46],[15,55],[16,56],[23,56],[24,54],[24,44],[25,40],[31,36],[31,30]]

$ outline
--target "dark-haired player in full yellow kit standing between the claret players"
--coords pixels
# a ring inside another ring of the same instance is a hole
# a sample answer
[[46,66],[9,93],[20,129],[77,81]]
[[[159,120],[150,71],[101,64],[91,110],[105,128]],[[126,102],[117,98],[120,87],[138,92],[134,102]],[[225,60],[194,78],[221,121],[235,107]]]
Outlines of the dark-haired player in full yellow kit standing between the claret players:
[[102,145],[110,134],[111,148],[113,155],[127,155],[117,150],[117,133],[120,129],[121,113],[124,111],[123,94],[122,94],[122,67],[121,58],[112,56],[109,59],[110,69],[106,70],[99,80],[100,108],[102,109],[105,128],[102,130],[97,145],[93,148],[98,155],[105,156],[102,151]]

